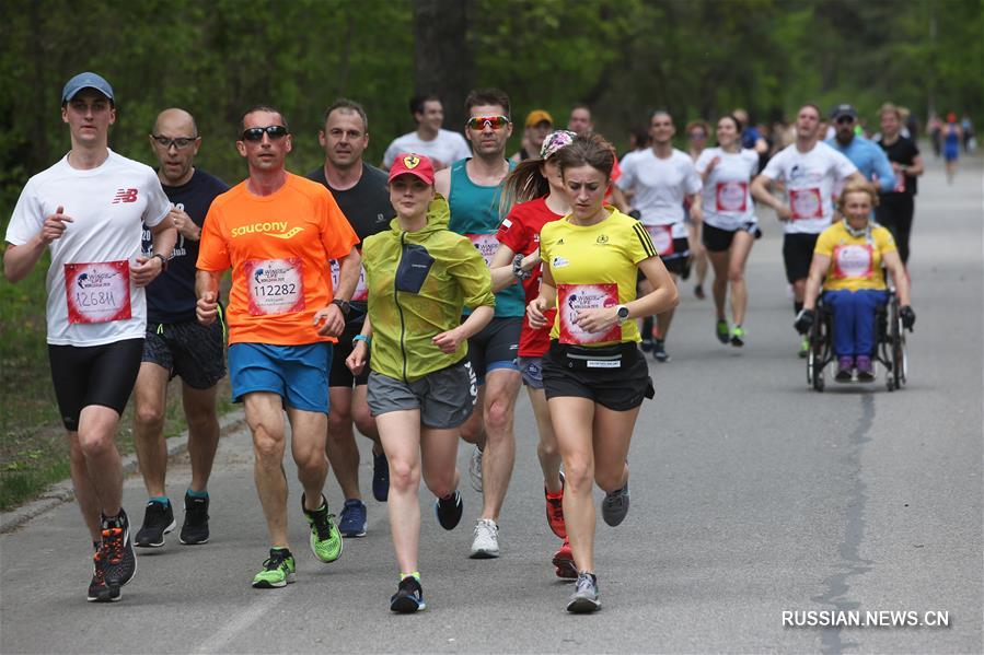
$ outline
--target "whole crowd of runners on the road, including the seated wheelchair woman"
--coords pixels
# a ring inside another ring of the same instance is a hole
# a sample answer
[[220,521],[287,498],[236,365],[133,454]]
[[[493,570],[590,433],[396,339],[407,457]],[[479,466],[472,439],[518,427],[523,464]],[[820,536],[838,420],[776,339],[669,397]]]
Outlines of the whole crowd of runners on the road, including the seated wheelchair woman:
[[[736,109],[688,124],[690,152],[673,147],[674,117],[657,110],[621,159],[594,133],[584,105],[571,109],[566,129],[531,112],[508,157],[509,96],[476,90],[465,109],[462,134],[443,129],[437,96],[414,98],[417,129],[395,139],[378,168],[363,159],[366,110],[338,100],[317,134],[324,164],[302,177],[287,169],[294,138],[287,117],[276,106],[251,107],[235,141],[248,176],[229,187],[195,165],[202,138],[188,112],[157,117],[151,168],[108,149],[109,83],[91,72],[68,81],[61,115],[71,150],[24,187],[3,265],[16,282],[50,254],[47,341],[92,541],[89,600],[119,600],[137,570],[135,547],[160,548],[177,527],[163,437],[175,376],[192,463],[178,539],[209,540],[216,389],[227,356],[268,531],[254,587],[283,587],[297,574],[288,443],[314,557],[334,562],[346,539],[366,535],[356,432],[371,442],[372,495],[389,512],[398,570],[391,610],[426,607],[421,478],[442,528],[465,515],[460,438],[472,448],[467,478],[482,494],[470,511],[468,555],[500,557],[525,386],[557,538],[545,559],[575,581],[567,610],[590,612],[601,607],[592,490],[605,494],[604,522],[621,524],[633,430],[653,396],[646,353],[671,361],[680,279],[694,268],[694,293],[704,297],[713,276],[708,339],[713,320],[722,344],[754,341],[744,271],[762,235],[756,203],[775,211],[785,233],[796,327],[810,324],[821,293],[842,313],[838,376],[870,378],[863,314],[884,302],[882,264],[903,320],[915,320],[905,262],[923,162],[894,105],[881,107],[871,141],[850,105],[825,115],[806,104],[782,148]],[[807,348],[804,339],[800,354]],[[139,529],[121,506],[115,444],[131,395],[148,493]],[[337,516],[324,493],[329,464],[344,495]]]

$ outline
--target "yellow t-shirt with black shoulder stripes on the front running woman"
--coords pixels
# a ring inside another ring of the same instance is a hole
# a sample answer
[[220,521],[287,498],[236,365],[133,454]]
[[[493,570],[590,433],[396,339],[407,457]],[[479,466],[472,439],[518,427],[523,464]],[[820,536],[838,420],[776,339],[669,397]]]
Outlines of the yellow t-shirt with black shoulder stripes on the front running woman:
[[641,223],[614,208],[607,211],[609,218],[597,225],[575,225],[568,215],[547,223],[540,233],[540,256],[557,284],[557,317],[551,339],[562,343],[639,341],[635,320],[601,332],[587,332],[574,324],[580,309],[634,301],[637,265],[658,256]]

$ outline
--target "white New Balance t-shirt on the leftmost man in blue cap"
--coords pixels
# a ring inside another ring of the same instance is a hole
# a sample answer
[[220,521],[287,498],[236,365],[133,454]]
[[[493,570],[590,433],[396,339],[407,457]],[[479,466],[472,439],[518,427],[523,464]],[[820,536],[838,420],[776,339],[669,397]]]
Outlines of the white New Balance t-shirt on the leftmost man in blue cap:
[[58,207],[72,222],[48,245],[48,343],[102,346],[143,337],[147,299],[128,267],[140,255],[143,225],[160,224],[171,211],[157,173],[113,151],[88,171],[61,157],[27,180],[7,227],[8,243],[27,244]]

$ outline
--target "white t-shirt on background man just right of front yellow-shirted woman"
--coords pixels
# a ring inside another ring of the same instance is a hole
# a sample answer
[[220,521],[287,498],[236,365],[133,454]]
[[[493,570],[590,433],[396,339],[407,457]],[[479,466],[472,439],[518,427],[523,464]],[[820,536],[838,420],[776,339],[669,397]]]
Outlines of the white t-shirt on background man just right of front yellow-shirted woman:
[[673,149],[664,160],[651,148],[626,156],[620,189],[632,189],[633,207],[643,215],[644,225],[672,225],[673,238],[686,236],[683,223],[683,199],[701,190],[701,176],[685,152]]

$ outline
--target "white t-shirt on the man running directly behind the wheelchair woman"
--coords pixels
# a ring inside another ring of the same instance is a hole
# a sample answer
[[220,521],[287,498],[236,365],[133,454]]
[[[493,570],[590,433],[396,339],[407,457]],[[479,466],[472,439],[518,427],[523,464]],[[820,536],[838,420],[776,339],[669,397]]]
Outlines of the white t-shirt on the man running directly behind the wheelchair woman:
[[817,143],[806,153],[794,143],[768,160],[762,175],[786,184],[786,201],[792,210],[784,224],[786,234],[820,234],[830,227],[834,184],[852,173],[857,173],[857,166],[826,143]]

